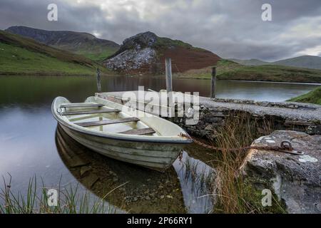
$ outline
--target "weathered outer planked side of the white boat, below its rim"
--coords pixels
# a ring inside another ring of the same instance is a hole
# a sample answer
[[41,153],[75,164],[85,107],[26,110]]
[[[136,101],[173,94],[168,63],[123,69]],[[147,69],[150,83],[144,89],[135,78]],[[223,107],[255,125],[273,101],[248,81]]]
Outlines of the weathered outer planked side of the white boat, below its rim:
[[173,164],[184,147],[178,143],[102,138],[59,125],[71,138],[101,155],[161,172]]

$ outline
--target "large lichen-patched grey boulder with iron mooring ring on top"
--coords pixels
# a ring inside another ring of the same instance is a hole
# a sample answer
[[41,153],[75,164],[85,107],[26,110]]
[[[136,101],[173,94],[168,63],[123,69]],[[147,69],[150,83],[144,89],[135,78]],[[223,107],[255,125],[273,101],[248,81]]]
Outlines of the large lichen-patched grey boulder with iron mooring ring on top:
[[282,140],[304,155],[252,149],[240,173],[256,189],[274,192],[289,213],[321,213],[321,135],[277,130],[253,145],[280,145]]

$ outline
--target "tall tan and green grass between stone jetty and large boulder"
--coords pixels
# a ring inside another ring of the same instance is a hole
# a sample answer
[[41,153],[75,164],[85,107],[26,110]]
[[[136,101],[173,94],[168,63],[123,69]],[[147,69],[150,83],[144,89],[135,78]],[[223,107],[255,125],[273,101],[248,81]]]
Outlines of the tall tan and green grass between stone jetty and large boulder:
[[275,207],[261,205],[260,192],[248,185],[242,177],[238,177],[238,169],[242,164],[246,150],[231,152],[232,148],[246,147],[254,140],[272,133],[270,120],[257,120],[247,113],[232,113],[215,135],[213,145],[224,148],[216,154],[216,177],[213,182],[213,196],[217,200],[213,212],[221,213],[283,213],[284,209],[274,196]]

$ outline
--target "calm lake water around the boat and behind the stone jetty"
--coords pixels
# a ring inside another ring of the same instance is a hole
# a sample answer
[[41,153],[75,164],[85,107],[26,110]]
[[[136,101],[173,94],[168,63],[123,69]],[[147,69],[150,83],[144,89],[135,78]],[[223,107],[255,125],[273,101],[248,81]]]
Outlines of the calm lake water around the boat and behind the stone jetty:
[[[165,88],[161,77],[110,76],[102,82],[103,91]],[[316,87],[240,81],[218,81],[217,85],[219,98],[270,101],[287,100]],[[211,197],[203,197],[210,193],[209,187],[200,181],[212,175],[207,162],[211,159],[203,148],[187,147],[182,159],[161,174],[102,157],[57,130],[52,100],[62,95],[82,102],[95,93],[95,78],[1,76],[0,88],[0,175],[6,180],[11,175],[12,190],[24,192],[34,175],[42,177],[46,187],[57,187],[61,178],[61,185],[79,185],[80,192],[89,191],[93,197],[126,183],[106,197],[120,212],[207,213],[212,209]],[[175,79],[173,88],[207,96],[210,81]]]

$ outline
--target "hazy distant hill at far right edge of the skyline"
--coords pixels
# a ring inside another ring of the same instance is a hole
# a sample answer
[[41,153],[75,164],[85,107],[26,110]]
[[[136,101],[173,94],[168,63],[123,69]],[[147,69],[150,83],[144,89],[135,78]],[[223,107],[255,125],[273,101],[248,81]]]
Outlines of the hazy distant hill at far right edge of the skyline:
[[295,66],[300,68],[312,68],[321,70],[321,57],[319,56],[299,56],[295,58],[287,58],[272,63],[280,66]]

